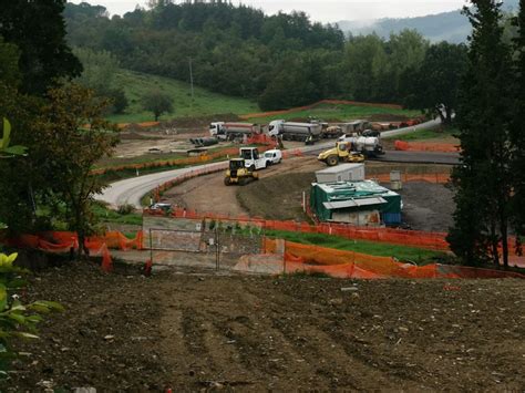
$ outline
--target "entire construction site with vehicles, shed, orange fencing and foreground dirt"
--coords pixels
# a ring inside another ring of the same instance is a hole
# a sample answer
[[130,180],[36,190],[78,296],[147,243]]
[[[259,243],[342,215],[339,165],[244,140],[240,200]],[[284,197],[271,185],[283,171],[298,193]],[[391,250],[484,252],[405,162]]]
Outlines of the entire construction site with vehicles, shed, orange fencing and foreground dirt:
[[[523,257],[512,252],[513,271],[462,267],[445,240],[454,141],[222,126],[123,133],[132,176],[99,198],[133,205],[142,225],[90,238],[102,270],[33,280],[30,297],[68,313],[42,327],[56,339],[21,344],[39,372],[16,361],[8,391],[525,386]],[[55,255],[76,240],[23,241]]]

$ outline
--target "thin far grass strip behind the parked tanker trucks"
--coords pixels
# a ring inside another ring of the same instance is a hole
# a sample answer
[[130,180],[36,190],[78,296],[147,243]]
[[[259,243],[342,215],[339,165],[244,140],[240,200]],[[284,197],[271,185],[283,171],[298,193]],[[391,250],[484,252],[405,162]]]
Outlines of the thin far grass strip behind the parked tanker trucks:
[[308,118],[309,116],[321,118],[326,122],[344,122],[350,120],[372,117],[380,115],[395,115],[414,117],[421,115],[420,111],[405,111],[405,110],[391,110],[385,107],[377,106],[356,106],[356,105],[343,105],[343,104],[320,104],[311,110],[298,111],[292,113],[279,114],[275,116],[250,118],[253,123],[268,123],[272,120],[284,118]]

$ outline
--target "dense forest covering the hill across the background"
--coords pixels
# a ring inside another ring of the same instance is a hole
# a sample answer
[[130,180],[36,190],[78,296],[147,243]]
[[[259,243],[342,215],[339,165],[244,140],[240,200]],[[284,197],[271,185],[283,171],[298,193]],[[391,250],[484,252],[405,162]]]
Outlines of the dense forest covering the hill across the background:
[[182,81],[189,81],[192,61],[196,84],[255,99],[261,110],[327,97],[419,107],[421,87],[440,76],[431,82],[423,66],[439,63],[456,75],[466,59],[464,45],[431,45],[411,30],[388,40],[344,37],[337,25],[311,22],[303,12],[265,15],[223,1],[152,1],[150,9],[112,18],[100,6],[68,3],[64,17],[69,42],[80,51],[110,53],[125,69]]

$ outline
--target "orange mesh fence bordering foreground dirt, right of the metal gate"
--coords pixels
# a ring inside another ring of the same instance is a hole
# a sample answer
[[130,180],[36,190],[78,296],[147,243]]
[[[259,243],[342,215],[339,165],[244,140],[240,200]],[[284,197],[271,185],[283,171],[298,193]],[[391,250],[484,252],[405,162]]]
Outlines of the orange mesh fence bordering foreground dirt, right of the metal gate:
[[[265,240],[265,252],[275,252],[277,241]],[[462,266],[426,265],[414,266],[393,260],[389,257],[377,257],[353,251],[342,251],[291,241],[285,242],[285,271],[325,273],[336,278],[354,279],[488,279],[521,278],[525,275],[501,270],[477,269]]]

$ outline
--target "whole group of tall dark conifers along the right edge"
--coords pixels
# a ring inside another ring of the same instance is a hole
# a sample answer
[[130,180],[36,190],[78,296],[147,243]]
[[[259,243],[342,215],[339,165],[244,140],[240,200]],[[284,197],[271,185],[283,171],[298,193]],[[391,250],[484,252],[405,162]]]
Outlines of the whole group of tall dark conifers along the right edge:
[[507,267],[525,235],[525,0],[509,42],[501,3],[472,3],[464,9],[473,33],[457,103],[462,152],[452,173],[456,209],[447,239],[466,263]]

